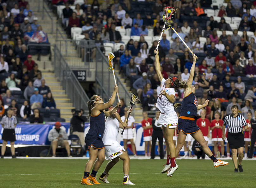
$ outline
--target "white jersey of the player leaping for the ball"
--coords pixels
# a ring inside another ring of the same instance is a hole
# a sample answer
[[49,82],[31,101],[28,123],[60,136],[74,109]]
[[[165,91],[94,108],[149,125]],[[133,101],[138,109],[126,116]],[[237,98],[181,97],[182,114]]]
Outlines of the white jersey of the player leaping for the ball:
[[[161,81],[161,91],[165,90],[165,92],[168,95],[174,95],[174,98],[175,98],[174,88],[171,88],[171,87],[166,88],[164,82],[165,82],[165,79],[163,78]],[[177,116],[176,112],[174,111],[173,103],[168,101],[168,99],[164,95],[161,94],[161,91],[158,94],[158,98],[157,98],[155,107],[157,107],[163,114]]]

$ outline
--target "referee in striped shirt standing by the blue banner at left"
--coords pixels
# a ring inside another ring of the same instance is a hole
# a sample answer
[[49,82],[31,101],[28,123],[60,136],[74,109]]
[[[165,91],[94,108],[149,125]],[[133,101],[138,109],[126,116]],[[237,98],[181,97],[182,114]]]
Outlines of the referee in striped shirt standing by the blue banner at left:
[[7,141],[10,141],[12,158],[16,158],[15,148],[14,148],[14,141],[16,141],[15,127],[16,127],[16,124],[17,124],[17,119],[13,115],[13,113],[14,113],[13,110],[11,108],[8,108],[7,109],[7,115],[3,116],[3,118],[2,118],[3,146],[2,146],[2,149],[1,149],[1,158],[3,158],[3,156],[4,156]]

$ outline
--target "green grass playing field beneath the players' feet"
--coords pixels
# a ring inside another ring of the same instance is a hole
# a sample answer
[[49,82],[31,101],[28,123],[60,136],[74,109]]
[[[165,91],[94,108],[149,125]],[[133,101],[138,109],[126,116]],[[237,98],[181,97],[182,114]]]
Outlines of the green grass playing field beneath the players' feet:
[[[0,159],[0,187],[47,187],[76,188],[88,187],[80,184],[84,166],[88,159]],[[130,180],[132,187],[255,187],[256,161],[244,160],[244,172],[234,173],[234,165],[228,160],[227,166],[213,167],[211,160],[177,160],[179,169],[173,177],[160,174],[166,160],[131,159]],[[103,172],[107,161],[101,166],[98,177]],[[109,172],[110,184],[92,185],[97,187],[122,187],[123,162],[119,160]]]

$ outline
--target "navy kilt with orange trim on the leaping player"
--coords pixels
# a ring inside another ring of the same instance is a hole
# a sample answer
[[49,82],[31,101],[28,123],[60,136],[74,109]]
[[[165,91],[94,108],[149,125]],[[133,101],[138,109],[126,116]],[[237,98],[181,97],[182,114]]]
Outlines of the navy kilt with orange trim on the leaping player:
[[200,128],[197,126],[196,120],[179,118],[177,130],[177,134],[180,134],[180,131],[186,134],[190,134],[197,132],[198,130],[200,130]]

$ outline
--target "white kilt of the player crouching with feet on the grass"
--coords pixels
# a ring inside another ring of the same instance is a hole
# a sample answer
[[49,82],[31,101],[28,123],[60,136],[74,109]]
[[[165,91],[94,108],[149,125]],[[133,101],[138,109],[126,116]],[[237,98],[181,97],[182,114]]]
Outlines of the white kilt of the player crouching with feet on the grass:
[[125,152],[125,149],[119,143],[113,143],[112,145],[105,145],[105,158],[112,160]]

